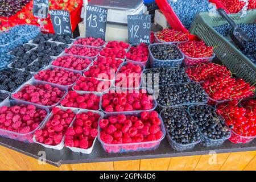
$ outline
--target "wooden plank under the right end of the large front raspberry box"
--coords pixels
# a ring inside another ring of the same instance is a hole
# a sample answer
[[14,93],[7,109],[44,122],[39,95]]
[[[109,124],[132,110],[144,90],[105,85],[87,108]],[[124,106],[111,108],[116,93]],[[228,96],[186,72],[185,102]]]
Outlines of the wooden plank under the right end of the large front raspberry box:
[[141,171],[166,171],[171,158],[142,159],[139,169]]

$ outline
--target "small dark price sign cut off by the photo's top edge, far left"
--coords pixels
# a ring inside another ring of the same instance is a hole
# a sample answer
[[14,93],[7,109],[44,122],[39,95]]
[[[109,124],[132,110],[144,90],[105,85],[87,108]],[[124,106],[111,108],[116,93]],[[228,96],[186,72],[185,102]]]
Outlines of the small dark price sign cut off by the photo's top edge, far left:
[[33,15],[47,18],[49,13],[49,0],[33,0]]

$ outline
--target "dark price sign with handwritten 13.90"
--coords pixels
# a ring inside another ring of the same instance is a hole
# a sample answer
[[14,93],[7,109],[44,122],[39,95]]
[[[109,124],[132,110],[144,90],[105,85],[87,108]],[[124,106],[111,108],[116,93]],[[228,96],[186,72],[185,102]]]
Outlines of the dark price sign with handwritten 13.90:
[[98,6],[86,6],[86,37],[105,40],[108,9]]

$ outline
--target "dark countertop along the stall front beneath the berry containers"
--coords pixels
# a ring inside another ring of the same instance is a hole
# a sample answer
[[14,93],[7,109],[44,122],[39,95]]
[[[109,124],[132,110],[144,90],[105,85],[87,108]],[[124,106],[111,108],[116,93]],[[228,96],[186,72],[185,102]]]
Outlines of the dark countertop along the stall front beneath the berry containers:
[[46,162],[53,166],[59,167],[61,164],[76,164],[76,163],[94,163],[94,162],[109,162],[118,160],[136,160],[136,159],[154,159],[154,158],[168,158],[176,156],[191,156],[209,154],[209,151],[216,153],[241,152],[241,151],[255,151],[256,139],[248,144],[233,144],[227,140],[218,147],[204,147],[197,144],[195,148],[188,151],[175,151],[170,147],[167,139],[164,138],[160,146],[156,150],[128,152],[121,154],[108,154],[101,147],[100,142],[96,141],[91,154],[80,154],[72,152],[69,148],[63,150],[53,150],[45,148],[36,143],[23,143],[13,139],[0,137],[0,145],[12,150],[21,152],[22,154],[38,159],[42,155],[40,151],[46,152]]

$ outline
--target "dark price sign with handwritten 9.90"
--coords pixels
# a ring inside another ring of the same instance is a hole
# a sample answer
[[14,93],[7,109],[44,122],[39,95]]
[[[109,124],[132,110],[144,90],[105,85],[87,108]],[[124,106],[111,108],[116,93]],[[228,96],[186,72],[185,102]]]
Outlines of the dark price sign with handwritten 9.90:
[[49,13],[55,34],[73,37],[69,11],[51,10]]

